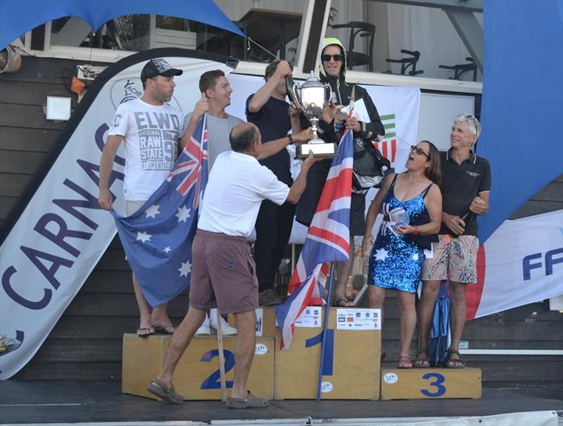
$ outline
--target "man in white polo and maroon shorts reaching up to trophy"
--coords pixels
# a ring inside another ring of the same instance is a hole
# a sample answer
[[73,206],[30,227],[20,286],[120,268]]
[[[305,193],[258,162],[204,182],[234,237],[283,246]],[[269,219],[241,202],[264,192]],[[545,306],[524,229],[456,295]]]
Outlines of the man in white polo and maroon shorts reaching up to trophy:
[[217,156],[209,175],[192,245],[189,311],[178,326],[158,377],[148,385],[152,394],[174,403],[184,399],[172,387],[172,375],[209,308],[234,313],[238,334],[234,347],[234,383],[227,399],[229,408],[261,408],[266,399],[246,389],[255,347],[255,308],[258,280],[247,237],[251,233],[262,200],[277,205],[296,203],[303,194],[307,173],[316,159],[310,155],[301,173],[288,187],[272,171],[258,163],[262,141],[258,127],[241,123],[229,135],[232,151]]

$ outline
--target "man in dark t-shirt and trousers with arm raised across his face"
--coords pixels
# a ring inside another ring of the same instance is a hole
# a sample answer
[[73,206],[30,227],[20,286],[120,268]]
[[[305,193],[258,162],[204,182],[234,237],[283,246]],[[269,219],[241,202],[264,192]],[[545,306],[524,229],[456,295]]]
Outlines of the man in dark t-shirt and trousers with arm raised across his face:
[[[258,127],[262,141],[287,136],[289,143],[293,143],[291,135],[288,135],[289,130],[293,130],[293,134],[301,131],[299,111],[292,108],[290,114],[289,104],[286,102],[286,75],[291,75],[291,65],[287,61],[270,63],[265,71],[265,84],[246,100],[246,120]],[[281,182],[291,187],[293,179],[289,152],[286,149],[265,158],[260,164],[272,170]],[[260,305],[271,306],[283,301],[274,293],[274,280],[289,242],[295,208],[295,204],[284,203],[277,206],[268,200],[262,201],[260,206],[254,244]]]

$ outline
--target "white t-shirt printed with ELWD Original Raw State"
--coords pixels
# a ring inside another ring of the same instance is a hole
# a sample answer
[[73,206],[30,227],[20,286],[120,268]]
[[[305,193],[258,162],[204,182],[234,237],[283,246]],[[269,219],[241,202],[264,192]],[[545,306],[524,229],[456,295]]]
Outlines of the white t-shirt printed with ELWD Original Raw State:
[[124,137],[126,200],[146,200],[164,182],[177,158],[181,125],[182,112],[168,104],[134,99],[118,106],[108,134]]

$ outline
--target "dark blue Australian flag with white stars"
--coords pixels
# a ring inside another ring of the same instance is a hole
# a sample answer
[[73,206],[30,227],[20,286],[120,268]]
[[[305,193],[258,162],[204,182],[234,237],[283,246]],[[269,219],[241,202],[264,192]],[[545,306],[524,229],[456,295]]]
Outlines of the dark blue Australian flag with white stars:
[[128,218],[112,211],[127,261],[146,301],[160,306],[190,283],[191,242],[207,183],[207,115],[180,154],[167,179]]

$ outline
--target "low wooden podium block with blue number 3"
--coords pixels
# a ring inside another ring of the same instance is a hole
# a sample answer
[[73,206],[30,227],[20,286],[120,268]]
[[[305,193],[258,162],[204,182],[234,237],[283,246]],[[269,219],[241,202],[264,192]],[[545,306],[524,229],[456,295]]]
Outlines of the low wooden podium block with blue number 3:
[[479,368],[384,368],[381,399],[481,398]]

